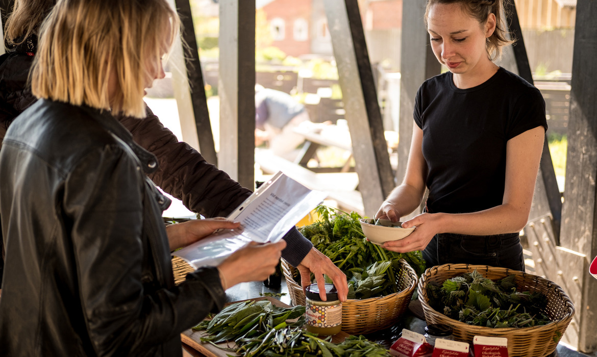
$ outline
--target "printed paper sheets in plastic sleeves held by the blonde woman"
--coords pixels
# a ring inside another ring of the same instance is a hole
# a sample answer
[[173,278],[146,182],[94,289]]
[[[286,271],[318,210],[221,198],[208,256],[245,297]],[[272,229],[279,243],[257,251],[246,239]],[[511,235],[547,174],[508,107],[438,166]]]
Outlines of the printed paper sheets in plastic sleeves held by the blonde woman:
[[277,173],[227,217],[241,228],[214,233],[173,254],[195,269],[217,266],[251,241],[278,242],[326,196]]

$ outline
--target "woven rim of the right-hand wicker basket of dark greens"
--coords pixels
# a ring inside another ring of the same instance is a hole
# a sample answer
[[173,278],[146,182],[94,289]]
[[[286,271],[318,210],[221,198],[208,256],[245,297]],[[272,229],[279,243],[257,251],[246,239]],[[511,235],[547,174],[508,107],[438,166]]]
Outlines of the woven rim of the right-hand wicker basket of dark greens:
[[[546,281],[548,283],[547,285],[553,286],[553,288],[555,288],[555,290],[558,292],[558,296],[560,298],[562,298],[562,300],[564,300],[564,303],[565,303],[568,311],[567,311],[567,313],[565,313],[565,315],[562,318],[558,319],[557,321],[549,322],[549,324],[545,324],[545,325],[538,325],[538,326],[532,326],[532,327],[485,327],[485,326],[478,326],[478,325],[469,325],[464,322],[455,320],[453,318],[449,318],[448,316],[444,315],[443,313],[438,312],[435,309],[433,309],[433,307],[431,307],[429,305],[429,303],[427,303],[427,301],[426,301],[427,293],[424,290],[424,287],[426,287],[426,285],[427,285],[427,281],[426,281],[427,275],[429,275],[433,270],[435,270],[436,272],[438,270],[469,270],[470,272],[472,272],[475,269],[477,269],[479,272],[483,272],[483,271],[489,272],[491,270],[493,272],[504,272],[504,273],[508,273],[508,274],[522,276],[522,278],[524,278],[524,279],[530,278],[533,280],[536,279],[537,281]],[[562,290],[562,288],[555,282],[552,282],[549,279],[545,279],[541,276],[533,275],[533,274],[530,274],[527,272],[521,272],[519,270],[507,269],[507,268],[503,268],[503,267],[493,267],[493,266],[487,266],[487,265],[442,264],[439,266],[429,267],[425,270],[425,272],[419,278],[417,293],[418,293],[418,299],[421,301],[421,304],[423,304],[425,309],[430,310],[430,312],[435,313],[436,315],[443,316],[445,319],[450,320],[450,322],[453,323],[454,325],[456,325],[457,327],[475,328],[475,329],[478,329],[479,331],[485,331],[485,332],[493,331],[494,333],[497,333],[497,332],[509,333],[511,331],[516,331],[518,333],[524,333],[525,331],[531,331],[531,330],[533,332],[538,332],[538,331],[542,331],[542,330],[552,330],[555,325],[569,324],[574,316],[574,313],[576,312],[576,310],[574,309],[574,304],[572,303],[572,300],[570,300],[570,297],[568,297],[568,295],[564,292],[564,290]],[[423,297],[425,297],[425,298],[423,298]]]

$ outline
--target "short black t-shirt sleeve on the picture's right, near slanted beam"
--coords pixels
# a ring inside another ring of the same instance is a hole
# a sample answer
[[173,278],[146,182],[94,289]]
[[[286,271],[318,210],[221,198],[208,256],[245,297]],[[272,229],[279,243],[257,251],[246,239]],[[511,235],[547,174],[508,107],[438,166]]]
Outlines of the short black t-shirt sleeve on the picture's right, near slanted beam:
[[547,130],[545,100],[537,88],[528,88],[516,99],[512,108],[506,128],[506,140],[536,127],[544,127]]

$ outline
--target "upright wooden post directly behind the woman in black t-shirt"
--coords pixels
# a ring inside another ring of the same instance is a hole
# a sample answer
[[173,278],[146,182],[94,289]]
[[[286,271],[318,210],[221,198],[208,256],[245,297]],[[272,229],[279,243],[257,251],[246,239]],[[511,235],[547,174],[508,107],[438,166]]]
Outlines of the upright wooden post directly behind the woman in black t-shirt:
[[[425,2],[402,2],[402,50],[400,79],[400,120],[398,125],[397,183],[402,183],[407,170],[408,153],[413,140],[413,109],[418,87],[432,76],[439,75],[441,64],[429,44],[429,34],[423,23]],[[414,212],[412,217],[420,212]]]

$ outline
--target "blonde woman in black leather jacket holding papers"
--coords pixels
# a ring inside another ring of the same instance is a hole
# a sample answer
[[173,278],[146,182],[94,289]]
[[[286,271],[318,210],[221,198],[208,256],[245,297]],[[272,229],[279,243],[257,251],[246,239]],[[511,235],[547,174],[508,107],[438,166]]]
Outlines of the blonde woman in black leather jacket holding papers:
[[177,356],[224,289],[266,278],[285,242],[253,245],[174,286],[170,251],[225,220],[164,227],[155,156],[113,115],[145,116],[144,88],[179,22],[165,0],[61,0],[31,73],[40,99],[0,151],[6,250],[0,355]]

